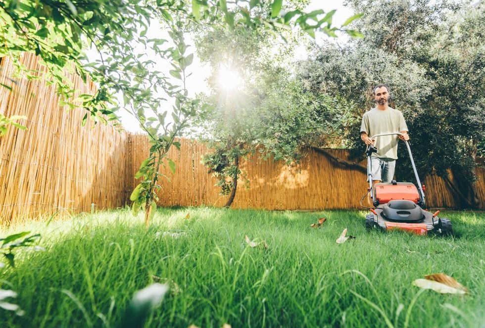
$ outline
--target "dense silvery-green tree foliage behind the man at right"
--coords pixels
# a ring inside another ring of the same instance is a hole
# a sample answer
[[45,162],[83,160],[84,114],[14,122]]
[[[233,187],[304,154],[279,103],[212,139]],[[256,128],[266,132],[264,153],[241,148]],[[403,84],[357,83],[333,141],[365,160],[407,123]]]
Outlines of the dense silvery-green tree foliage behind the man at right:
[[[391,107],[401,110],[421,176],[436,172],[457,180],[454,194],[475,206],[475,158],[485,138],[485,19],[483,4],[427,0],[348,1],[364,15],[354,22],[365,38],[342,48],[315,47],[301,78],[314,94],[326,93],[355,103],[361,117],[372,106],[372,87],[388,83]],[[359,122],[349,141],[362,154]],[[399,158],[407,150],[399,146]],[[410,162],[396,172],[413,179]],[[449,181],[449,179],[448,179]],[[463,185],[461,185],[463,182]]]

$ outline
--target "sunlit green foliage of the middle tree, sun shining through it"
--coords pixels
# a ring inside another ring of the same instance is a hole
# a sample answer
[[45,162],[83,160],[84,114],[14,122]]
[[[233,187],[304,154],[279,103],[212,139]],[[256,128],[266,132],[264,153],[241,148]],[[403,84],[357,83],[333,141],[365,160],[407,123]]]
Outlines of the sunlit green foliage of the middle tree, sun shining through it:
[[[287,10],[299,13],[299,7],[305,4],[303,2],[291,1]],[[263,5],[261,14],[270,16],[273,9],[274,6]],[[330,23],[334,13],[317,10],[311,15],[325,14],[318,20],[321,24]],[[350,18],[348,23],[357,17]],[[336,28],[320,30],[336,36]],[[305,32],[311,36],[314,34],[308,29]],[[357,32],[347,33],[358,35]],[[318,113],[310,110],[307,114],[307,99],[285,67],[292,58],[291,49],[304,40],[300,34],[286,31],[280,37],[292,42],[282,44],[280,38],[266,28],[227,30],[216,26],[199,32],[197,37],[198,54],[202,61],[210,63],[212,75],[209,77],[211,94],[205,99],[211,106],[199,113],[195,123],[203,127],[201,130],[206,140],[216,141],[210,143],[215,147],[213,153],[203,161],[209,172],[218,177],[217,185],[222,187],[222,194],[231,193],[226,204],[230,206],[238,176],[242,174],[238,166],[241,157],[259,150],[264,154],[263,158],[274,155],[275,159],[285,158],[287,162],[293,162],[297,160],[296,154],[301,147],[299,140],[308,130],[298,129],[302,125],[300,121],[308,118],[306,123],[316,126],[322,120],[310,119],[317,117]],[[241,77],[241,86],[236,90],[225,90],[224,82],[218,80],[221,71],[227,69]],[[284,111],[292,111],[298,122],[284,121],[281,116]]]

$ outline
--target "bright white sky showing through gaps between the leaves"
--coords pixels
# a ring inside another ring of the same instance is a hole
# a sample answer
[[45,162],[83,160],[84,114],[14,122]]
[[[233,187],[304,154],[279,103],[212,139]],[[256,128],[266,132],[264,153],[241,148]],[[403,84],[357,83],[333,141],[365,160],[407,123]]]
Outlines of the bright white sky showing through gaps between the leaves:
[[[340,26],[345,22],[345,20],[352,16],[352,11],[343,6],[341,1],[323,1],[323,0],[312,0],[308,7],[306,8],[307,12],[316,9],[323,9],[325,12],[329,12],[333,9],[337,9],[337,12],[333,16],[333,25]],[[166,32],[163,32],[160,25],[156,21],[152,21],[152,25],[148,29],[147,37],[148,38],[162,38],[162,39],[169,39],[164,37]],[[323,33],[319,33],[315,36],[317,43],[321,42],[322,40],[328,39]],[[339,36],[338,42],[344,43],[347,40],[346,36]],[[189,45],[193,45],[191,40],[186,40]],[[189,66],[188,70],[189,73],[192,72],[193,74],[187,79],[187,89],[189,90],[189,95],[194,96],[197,93],[206,92],[207,91],[207,83],[206,79],[210,74],[210,67],[208,65],[202,65],[200,60],[197,58],[195,53],[194,46],[188,48],[186,54],[194,53],[194,61],[191,66]],[[304,59],[307,56],[307,50],[305,46],[298,47],[295,51],[294,58],[295,59]],[[155,57],[155,56],[154,56]],[[165,61],[157,62],[157,70],[164,71],[168,73],[168,70],[171,69],[170,64]],[[168,75],[168,74],[167,74]],[[171,107],[171,106],[169,106]],[[138,122],[133,118],[133,116],[125,110],[120,110],[118,113],[121,116],[121,124],[125,128],[125,130],[130,132],[142,132],[143,130],[140,128]],[[170,117],[170,115],[167,115]]]

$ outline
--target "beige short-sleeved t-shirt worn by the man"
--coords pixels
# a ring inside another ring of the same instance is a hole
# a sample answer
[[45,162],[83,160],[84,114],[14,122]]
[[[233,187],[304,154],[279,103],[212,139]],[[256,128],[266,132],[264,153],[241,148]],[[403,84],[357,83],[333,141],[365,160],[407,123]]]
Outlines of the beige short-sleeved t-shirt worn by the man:
[[[401,131],[408,131],[407,125],[402,113],[394,108],[379,110],[374,107],[362,117],[360,132],[365,132],[369,137]],[[374,145],[378,151],[372,156],[397,159],[397,140],[396,135],[376,138]]]

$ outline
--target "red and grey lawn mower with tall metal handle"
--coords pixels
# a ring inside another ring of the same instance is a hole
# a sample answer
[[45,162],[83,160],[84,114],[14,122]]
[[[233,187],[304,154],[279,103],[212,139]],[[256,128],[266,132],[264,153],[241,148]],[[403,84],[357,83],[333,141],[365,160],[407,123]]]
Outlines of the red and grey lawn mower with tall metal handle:
[[[371,139],[374,140],[375,138],[389,135],[401,136],[402,134],[399,132],[379,134]],[[409,152],[418,187],[412,183],[396,182],[395,180],[388,183],[378,183],[373,186],[371,155],[377,152],[377,148],[373,144],[367,146],[368,192],[371,194],[374,205],[374,208],[366,207],[371,211],[365,218],[367,230],[380,229],[387,231],[399,229],[415,234],[452,234],[453,230],[450,220],[439,218],[439,211],[431,213],[428,212],[428,209],[424,209],[426,208],[424,195],[426,187],[421,185],[419,180],[409,143],[407,141],[404,141],[404,143]]]

